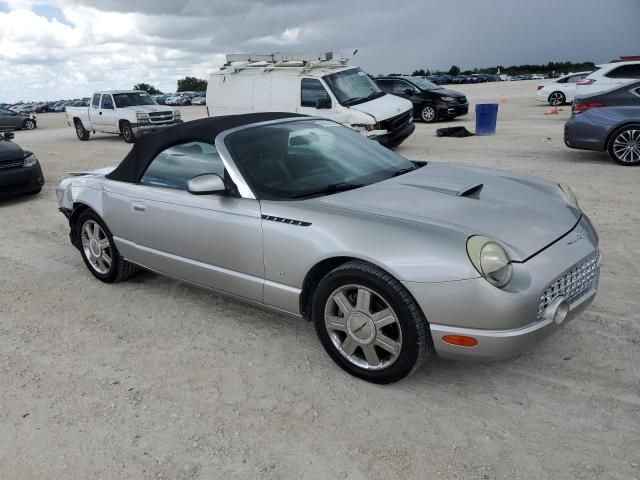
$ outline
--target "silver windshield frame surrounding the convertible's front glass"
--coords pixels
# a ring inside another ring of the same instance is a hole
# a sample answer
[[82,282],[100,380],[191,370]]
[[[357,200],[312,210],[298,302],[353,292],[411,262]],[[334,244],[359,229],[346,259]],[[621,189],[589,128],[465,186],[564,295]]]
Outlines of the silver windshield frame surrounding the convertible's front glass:
[[[349,127],[346,127],[338,122],[335,122],[333,120],[329,120],[323,117],[292,117],[292,118],[284,118],[284,119],[278,119],[278,120],[269,120],[269,121],[265,121],[265,122],[259,122],[259,123],[252,123],[249,125],[243,125],[240,127],[236,127],[236,128],[232,128],[229,130],[226,130],[224,132],[221,132],[214,141],[215,147],[218,150],[218,154],[220,155],[220,158],[222,159],[222,162],[225,166],[225,169],[227,171],[227,173],[229,174],[229,176],[231,177],[231,179],[233,180],[234,184],[236,185],[237,189],[238,189],[238,193],[240,194],[240,196],[242,198],[249,198],[249,199],[254,199],[254,200],[270,200],[270,201],[278,201],[278,202],[286,202],[286,201],[305,201],[307,199],[312,199],[312,198],[317,198],[320,196],[324,196],[324,195],[331,195],[334,193],[340,193],[341,190],[337,190],[335,192],[333,191],[329,191],[329,192],[324,192],[324,193],[319,193],[316,196],[309,196],[308,198],[298,198],[298,196],[296,194],[299,194],[301,192],[292,192],[293,194],[290,196],[272,196],[272,195],[263,195],[258,193],[258,189],[255,188],[255,185],[253,185],[250,182],[250,179],[247,178],[247,176],[244,174],[244,167],[242,165],[240,165],[240,163],[237,160],[236,154],[233,152],[232,147],[230,147],[228,145],[228,140],[229,137],[232,136],[235,133],[241,132],[241,131],[246,131],[246,130],[254,130],[257,128],[263,128],[263,127],[268,127],[268,126],[277,126],[277,125],[282,125],[282,124],[289,124],[289,123],[298,123],[298,122],[317,122],[317,121],[321,121],[321,122],[331,122],[333,124],[335,124],[336,127],[339,128],[344,128],[347,129],[349,131],[351,131],[354,135],[360,135],[359,133],[349,129]],[[363,140],[366,140],[364,137],[362,137]],[[399,159],[402,159],[405,161],[404,165],[397,165],[397,167],[402,167],[404,166],[409,167],[408,171],[414,170],[414,169],[418,169],[424,165],[426,165],[426,162],[415,162],[413,160],[409,160],[406,157],[403,157],[402,155],[399,155],[396,152],[393,152],[391,150],[387,150],[385,149],[385,147],[383,147],[382,145],[379,145],[376,143],[377,146],[379,146],[380,148],[384,149],[385,152],[388,151],[388,153],[392,154],[393,156],[398,157]],[[415,167],[415,168],[414,168]],[[368,175],[366,178],[362,177],[360,178],[360,180],[365,180],[363,182],[363,184],[361,185],[362,187],[366,187],[368,185],[373,185],[375,183],[380,183],[383,182],[385,180],[389,180],[395,176],[397,176],[398,174],[398,170],[402,170],[402,168],[392,168],[392,169],[385,169],[385,170],[379,170],[377,172],[375,172],[375,174],[371,174]],[[407,172],[402,172],[402,173],[407,173]],[[358,186],[357,188],[360,188],[360,186]]]

